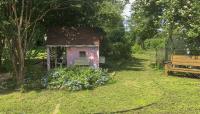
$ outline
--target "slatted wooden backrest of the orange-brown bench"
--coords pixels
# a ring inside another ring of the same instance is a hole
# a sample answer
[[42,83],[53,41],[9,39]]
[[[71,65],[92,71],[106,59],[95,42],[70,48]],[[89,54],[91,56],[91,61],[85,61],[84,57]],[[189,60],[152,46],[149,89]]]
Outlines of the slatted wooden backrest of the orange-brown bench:
[[172,55],[171,62],[174,65],[200,66],[200,56]]

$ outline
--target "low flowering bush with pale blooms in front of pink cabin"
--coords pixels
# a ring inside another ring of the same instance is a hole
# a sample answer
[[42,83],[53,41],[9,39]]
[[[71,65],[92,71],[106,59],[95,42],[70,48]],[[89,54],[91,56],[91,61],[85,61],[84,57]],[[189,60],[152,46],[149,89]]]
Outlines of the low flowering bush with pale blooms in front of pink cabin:
[[47,73],[43,85],[49,89],[72,91],[92,89],[106,84],[110,80],[107,70],[88,67],[57,68]]

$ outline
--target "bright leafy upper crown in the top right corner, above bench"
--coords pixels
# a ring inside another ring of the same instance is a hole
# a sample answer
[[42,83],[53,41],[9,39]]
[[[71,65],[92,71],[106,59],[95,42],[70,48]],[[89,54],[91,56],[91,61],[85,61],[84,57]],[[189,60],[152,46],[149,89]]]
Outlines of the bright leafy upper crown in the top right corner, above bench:
[[[163,28],[172,29],[173,32],[184,34],[187,38],[196,38],[199,36],[200,1],[199,0],[159,0],[160,5],[165,5],[163,15]],[[171,27],[171,28],[170,28]]]

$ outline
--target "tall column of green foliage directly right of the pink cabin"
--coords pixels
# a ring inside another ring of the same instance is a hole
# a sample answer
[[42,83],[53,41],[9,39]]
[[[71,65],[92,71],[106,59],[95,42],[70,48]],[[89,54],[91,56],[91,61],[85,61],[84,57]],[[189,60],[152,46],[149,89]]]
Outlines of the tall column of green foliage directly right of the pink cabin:
[[100,54],[107,58],[122,59],[129,58],[131,55],[131,42],[126,37],[121,16],[122,6],[123,4],[117,4],[117,2],[115,4],[105,2],[100,7],[98,17],[100,17],[99,22],[101,23],[99,26],[106,32]]

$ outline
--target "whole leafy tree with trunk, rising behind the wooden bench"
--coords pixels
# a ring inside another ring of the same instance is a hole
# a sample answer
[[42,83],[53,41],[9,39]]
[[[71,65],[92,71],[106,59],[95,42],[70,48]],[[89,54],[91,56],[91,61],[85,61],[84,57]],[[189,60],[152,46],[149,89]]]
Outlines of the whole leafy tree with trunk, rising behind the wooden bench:
[[157,3],[164,5],[161,28],[168,36],[166,37],[166,47],[170,48],[172,52],[175,50],[176,44],[173,39],[176,36],[186,41],[187,48],[200,49],[198,45],[193,46],[196,44],[196,39],[200,38],[200,23],[197,21],[200,19],[200,1],[159,0]]

